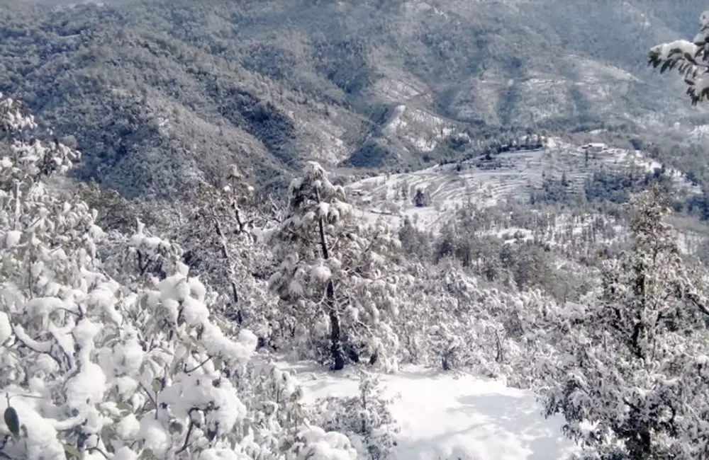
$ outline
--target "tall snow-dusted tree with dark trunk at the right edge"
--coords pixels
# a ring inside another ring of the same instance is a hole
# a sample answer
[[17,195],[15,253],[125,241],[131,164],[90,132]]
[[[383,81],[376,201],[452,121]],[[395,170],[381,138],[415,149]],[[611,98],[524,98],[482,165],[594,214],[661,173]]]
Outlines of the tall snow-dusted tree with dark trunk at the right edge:
[[707,459],[705,275],[681,258],[659,189],[633,207],[632,249],[605,265],[598,297],[554,314],[565,333],[544,364],[545,410],[588,458]]

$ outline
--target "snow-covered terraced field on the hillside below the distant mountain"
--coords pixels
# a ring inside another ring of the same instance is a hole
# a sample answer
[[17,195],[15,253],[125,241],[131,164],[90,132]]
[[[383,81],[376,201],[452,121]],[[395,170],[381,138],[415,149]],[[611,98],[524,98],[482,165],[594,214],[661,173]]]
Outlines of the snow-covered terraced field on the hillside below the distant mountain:
[[[565,176],[569,183],[566,192],[581,194],[586,179],[594,172],[652,172],[655,168],[661,168],[661,164],[640,151],[604,144],[578,146],[552,138],[543,149],[510,151],[488,162],[474,159],[413,173],[376,176],[348,188],[369,219],[384,217],[392,226],[398,226],[409,217],[421,229],[437,231],[447,214],[462,205],[491,207],[506,200],[528,203],[545,178],[559,180]],[[669,173],[678,193],[700,193],[678,171]],[[414,205],[417,190],[427,195],[425,206]]]

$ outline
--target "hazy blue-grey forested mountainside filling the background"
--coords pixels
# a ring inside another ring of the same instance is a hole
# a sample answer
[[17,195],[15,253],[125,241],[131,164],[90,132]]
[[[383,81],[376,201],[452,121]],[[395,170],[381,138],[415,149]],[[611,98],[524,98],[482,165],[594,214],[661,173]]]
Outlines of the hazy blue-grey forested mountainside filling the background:
[[705,112],[645,68],[651,45],[693,36],[699,0],[5,3],[0,91],[126,195],[234,161],[278,185],[303,159],[423,164],[463,130]]

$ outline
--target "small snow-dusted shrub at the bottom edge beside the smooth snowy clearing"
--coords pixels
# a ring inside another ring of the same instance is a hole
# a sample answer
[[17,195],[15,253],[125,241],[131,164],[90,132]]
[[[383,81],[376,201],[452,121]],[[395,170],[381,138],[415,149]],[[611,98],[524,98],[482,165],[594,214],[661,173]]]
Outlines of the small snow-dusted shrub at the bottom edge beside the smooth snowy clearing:
[[391,401],[382,395],[376,374],[359,373],[358,396],[322,399],[310,416],[325,429],[345,433],[362,458],[385,460],[396,446],[398,432],[389,411]]

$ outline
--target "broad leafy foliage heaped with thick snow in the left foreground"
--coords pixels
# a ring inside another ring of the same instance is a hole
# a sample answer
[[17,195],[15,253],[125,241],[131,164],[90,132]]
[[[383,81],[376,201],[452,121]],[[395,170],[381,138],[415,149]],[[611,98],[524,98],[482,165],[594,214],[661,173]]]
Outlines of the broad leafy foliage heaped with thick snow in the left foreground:
[[275,377],[242,381],[257,338],[213,314],[179,247],[139,224],[125,241],[137,270],[106,275],[96,212],[45,180],[79,152],[23,140],[35,127],[0,95],[1,456],[354,458],[346,437],[294,415],[297,398],[287,424],[264,414]]

